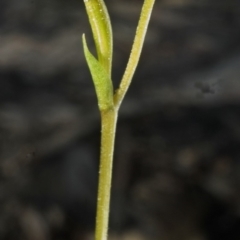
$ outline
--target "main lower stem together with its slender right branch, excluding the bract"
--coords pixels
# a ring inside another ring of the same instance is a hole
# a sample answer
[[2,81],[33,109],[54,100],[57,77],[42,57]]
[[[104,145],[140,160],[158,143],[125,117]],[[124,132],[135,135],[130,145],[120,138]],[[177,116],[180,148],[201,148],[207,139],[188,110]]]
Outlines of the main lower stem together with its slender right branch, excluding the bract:
[[114,106],[107,108],[107,110],[101,110],[100,108],[102,133],[95,240],[107,240],[114,140],[118,109],[129,88],[137,67],[154,2],[155,0],[144,1],[129,61],[119,89],[114,95]]

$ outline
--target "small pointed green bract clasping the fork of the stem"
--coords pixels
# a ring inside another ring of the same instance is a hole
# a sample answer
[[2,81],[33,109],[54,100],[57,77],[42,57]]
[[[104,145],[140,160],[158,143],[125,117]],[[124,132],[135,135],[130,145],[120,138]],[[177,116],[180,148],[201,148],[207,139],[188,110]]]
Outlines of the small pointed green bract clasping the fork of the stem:
[[100,110],[106,110],[113,107],[113,86],[112,80],[99,61],[91,54],[88,49],[85,35],[83,34],[83,50],[87,60],[88,67],[93,79],[98,98]]

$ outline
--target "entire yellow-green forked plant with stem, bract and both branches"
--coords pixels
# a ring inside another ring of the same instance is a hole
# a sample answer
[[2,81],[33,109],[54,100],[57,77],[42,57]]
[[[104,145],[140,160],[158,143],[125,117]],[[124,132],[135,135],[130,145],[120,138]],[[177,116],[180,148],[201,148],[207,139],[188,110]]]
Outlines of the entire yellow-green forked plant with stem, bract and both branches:
[[114,91],[111,79],[113,40],[109,14],[103,0],[84,0],[97,58],[89,51],[84,34],[82,37],[83,50],[95,86],[101,115],[101,151],[95,240],[107,239],[118,110],[138,65],[154,2],[155,0],[144,0],[127,67],[119,88]]

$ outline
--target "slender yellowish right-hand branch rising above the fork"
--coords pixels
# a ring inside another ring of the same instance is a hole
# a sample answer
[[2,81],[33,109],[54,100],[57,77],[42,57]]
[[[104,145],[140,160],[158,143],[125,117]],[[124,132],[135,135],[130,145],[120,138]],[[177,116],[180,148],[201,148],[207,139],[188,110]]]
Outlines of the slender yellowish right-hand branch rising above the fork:
[[128,64],[123,74],[120,87],[116,91],[114,96],[114,102],[116,106],[120,106],[129,88],[129,85],[132,81],[132,77],[136,70],[136,67],[138,65],[138,61],[140,58],[140,54],[142,52],[143,42],[146,36],[147,27],[148,27],[151,13],[152,13],[154,2],[155,0],[145,0],[142,6],[142,11],[141,11],[140,19],[138,22],[138,27],[137,27],[136,35],[134,38],[130,57],[128,60]]

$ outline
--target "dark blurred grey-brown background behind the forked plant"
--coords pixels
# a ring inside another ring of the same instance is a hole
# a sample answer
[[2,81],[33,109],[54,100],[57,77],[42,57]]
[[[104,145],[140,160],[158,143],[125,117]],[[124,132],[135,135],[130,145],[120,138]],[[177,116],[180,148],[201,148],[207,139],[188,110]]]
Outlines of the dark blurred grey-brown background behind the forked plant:
[[[143,1],[106,0],[118,86]],[[83,1],[0,1],[0,239],[93,239],[100,119]],[[240,1],[156,0],[120,111],[111,240],[240,239]]]

